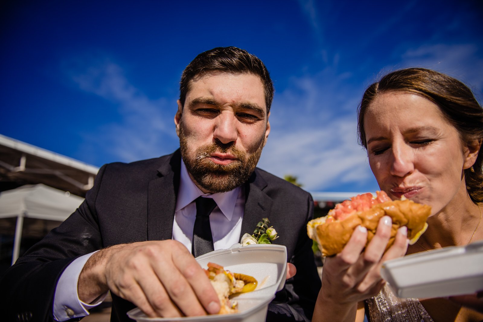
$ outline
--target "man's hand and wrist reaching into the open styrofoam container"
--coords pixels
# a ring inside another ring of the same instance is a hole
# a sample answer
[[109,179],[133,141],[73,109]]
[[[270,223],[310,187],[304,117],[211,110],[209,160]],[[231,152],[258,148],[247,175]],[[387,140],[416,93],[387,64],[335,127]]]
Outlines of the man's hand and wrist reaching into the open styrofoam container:
[[78,283],[90,303],[111,290],[149,317],[216,314],[220,303],[210,280],[186,247],[175,240],[121,244],[93,254]]

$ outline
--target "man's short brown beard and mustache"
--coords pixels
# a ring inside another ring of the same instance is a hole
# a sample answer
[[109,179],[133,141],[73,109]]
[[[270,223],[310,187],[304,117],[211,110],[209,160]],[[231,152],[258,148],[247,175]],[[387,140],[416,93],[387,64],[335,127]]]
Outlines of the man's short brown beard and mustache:
[[[210,193],[227,192],[245,183],[255,170],[263,149],[262,137],[259,146],[253,154],[247,155],[235,147],[235,143],[223,144],[220,141],[200,146],[191,158],[188,151],[188,142],[183,133],[183,125],[179,130],[181,157],[188,173],[194,181],[205,191]],[[215,164],[209,159],[215,152],[233,154],[235,160],[230,164]]]

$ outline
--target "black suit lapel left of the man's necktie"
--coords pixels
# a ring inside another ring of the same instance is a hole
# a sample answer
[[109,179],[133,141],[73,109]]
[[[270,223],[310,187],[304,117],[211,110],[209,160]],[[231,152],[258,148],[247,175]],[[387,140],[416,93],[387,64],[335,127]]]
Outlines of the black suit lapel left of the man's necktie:
[[172,237],[180,170],[181,154],[177,150],[158,169],[158,178],[149,182],[148,240],[163,240]]

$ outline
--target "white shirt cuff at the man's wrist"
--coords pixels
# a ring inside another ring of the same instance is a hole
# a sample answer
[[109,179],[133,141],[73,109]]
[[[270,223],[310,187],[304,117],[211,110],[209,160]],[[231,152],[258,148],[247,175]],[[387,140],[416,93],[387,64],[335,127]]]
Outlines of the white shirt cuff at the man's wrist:
[[76,258],[62,272],[57,282],[56,293],[54,295],[53,314],[57,321],[67,321],[72,318],[81,318],[89,315],[88,309],[94,308],[104,301],[107,292],[96,299],[96,303],[94,304],[82,302],[77,293],[79,275],[93,253],[95,252]]

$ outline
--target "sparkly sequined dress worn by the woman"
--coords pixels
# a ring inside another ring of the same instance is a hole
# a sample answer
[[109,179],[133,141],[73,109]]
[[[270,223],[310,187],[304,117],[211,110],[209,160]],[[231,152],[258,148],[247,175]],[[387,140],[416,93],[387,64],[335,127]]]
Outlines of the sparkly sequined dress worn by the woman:
[[417,298],[399,298],[387,285],[366,300],[366,313],[370,322],[433,322]]

